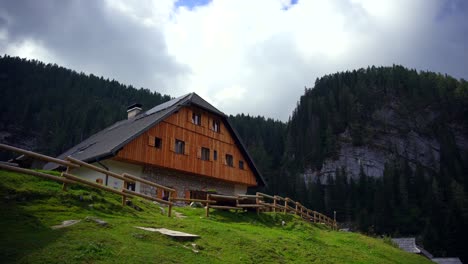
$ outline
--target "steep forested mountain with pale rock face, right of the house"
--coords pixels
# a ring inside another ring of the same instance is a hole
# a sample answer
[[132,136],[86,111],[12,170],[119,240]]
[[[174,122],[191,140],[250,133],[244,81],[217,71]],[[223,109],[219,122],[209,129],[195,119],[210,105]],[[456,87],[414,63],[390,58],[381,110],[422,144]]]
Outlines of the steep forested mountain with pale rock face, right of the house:
[[467,260],[467,116],[465,80],[401,66],[327,75],[292,115],[283,164],[312,208]]

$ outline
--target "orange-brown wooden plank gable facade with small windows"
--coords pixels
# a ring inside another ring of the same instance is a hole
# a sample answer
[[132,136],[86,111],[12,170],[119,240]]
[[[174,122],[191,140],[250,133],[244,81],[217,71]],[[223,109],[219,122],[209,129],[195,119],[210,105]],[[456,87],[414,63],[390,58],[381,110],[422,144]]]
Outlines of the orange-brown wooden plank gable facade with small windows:
[[[194,113],[201,117],[199,125],[194,124]],[[215,131],[214,124],[219,125],[219,132]],[[180,149],[176,140],[184,142],[183,154],[177,153]],[[205,148],[204,153],[202,148]],[[226,155],[232,156],[232,166],[228,164]],[[207,157],[209,160],[204,160]],[[181,108],[125,145],[114,159],[247,186],[257,185],[255,175],[246,162],[247,157],[242,155],[222,118],[196,107]]]

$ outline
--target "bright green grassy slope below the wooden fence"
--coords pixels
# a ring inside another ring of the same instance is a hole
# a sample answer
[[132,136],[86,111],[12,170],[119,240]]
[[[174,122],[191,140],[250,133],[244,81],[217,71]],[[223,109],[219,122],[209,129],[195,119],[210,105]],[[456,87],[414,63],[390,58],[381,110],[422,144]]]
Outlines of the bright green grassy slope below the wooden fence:
[[[0,171],[0,258],[11,263],[431,263],[356,233],[330,231],[292,215],[212,212],[175,208],[168,218],[158,205],[133,200],[143,211],[121,207],[120,197],[80,186]],[[81,198],[80,198],[81,197]],[[92,206],[91,206],[92,205]],[[109,223],[63,220],[95,216]],[[286,226],[281,226],[281,221]],[[165,227],[201,236],[179,242],[134,226]]]

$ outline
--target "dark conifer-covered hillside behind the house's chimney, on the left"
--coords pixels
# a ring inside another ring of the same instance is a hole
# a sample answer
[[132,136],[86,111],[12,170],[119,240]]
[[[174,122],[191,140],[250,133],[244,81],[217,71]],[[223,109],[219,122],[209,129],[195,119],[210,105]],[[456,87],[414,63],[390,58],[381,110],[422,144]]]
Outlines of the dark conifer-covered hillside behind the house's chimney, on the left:
[[0,139],[45,154],[58,155],[126,118],[134,102],[153,107],[170,99],[37,60],[0,57]]

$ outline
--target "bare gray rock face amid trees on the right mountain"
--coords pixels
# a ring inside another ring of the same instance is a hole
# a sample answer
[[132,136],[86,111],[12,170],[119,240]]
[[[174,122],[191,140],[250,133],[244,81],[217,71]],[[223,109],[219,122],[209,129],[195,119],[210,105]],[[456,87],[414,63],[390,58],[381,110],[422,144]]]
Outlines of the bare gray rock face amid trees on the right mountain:
[[[438,171],[440,167],[440,142],[433,132],[433,123],[438,115],[426,109],[419,113],[409,113],[392,103],[383,106],[372,114],[372,121],[364,128],[364,144],[354,146],[350,132],[339,135],[339,152],[334,158],[326,159],[320,170],[307,169],[303,173],[306,182],[318,177],[325,183],[327,176],[334,176],[337,169],[344,168],[347,175],[357,178],[361,166],[371,177],[383,175],[385,163],[404,159],[415,168],[419,164],[427,169]],[[447,124],[456,144],[462,153],[468,152],[468,131],[466,128]]]

